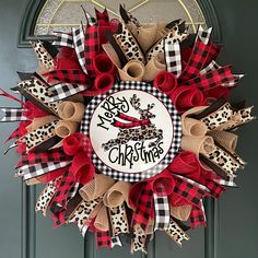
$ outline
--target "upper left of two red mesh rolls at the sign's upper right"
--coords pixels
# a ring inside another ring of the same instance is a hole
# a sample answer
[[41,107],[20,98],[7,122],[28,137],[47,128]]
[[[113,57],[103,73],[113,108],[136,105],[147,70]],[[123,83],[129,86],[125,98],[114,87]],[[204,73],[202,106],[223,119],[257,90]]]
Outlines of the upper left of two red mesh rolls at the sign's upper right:
[[153,84],[159,91],[169,95],[177,87],[177,79],[172,72],[163,71],[156,75]]

